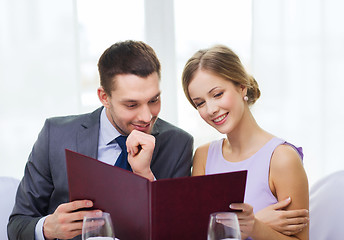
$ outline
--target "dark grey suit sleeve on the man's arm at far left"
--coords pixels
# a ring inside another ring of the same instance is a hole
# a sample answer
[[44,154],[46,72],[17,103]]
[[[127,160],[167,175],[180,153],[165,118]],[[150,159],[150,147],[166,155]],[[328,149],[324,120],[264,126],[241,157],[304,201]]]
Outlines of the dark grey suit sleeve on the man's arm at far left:
[[48,214],[53,189],[49,170],[49,121],[42,128],[25,166],[8,223],[10,240],[34,239],[35,226]]

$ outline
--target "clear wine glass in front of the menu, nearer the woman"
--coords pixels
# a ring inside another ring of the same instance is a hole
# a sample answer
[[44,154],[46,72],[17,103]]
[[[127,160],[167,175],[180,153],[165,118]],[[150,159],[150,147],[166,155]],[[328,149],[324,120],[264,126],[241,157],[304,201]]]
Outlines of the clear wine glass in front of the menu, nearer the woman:
[[235,213],[216,212],[210,214],[208,240],[221,239],[241,239],[239,221]]

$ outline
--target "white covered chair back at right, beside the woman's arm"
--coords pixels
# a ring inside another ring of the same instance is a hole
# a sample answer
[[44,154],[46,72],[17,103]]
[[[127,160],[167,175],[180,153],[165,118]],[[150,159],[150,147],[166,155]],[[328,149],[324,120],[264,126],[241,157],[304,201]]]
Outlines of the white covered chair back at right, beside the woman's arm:
[[309,239],[344,239],[344,171],[332,173],[310,188]]

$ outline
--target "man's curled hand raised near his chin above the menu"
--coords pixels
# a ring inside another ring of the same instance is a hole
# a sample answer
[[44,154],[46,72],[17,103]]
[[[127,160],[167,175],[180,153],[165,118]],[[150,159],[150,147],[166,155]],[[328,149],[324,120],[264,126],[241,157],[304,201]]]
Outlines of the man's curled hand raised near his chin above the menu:
[[133,130],[127,138],[128,162],[134,173],[154,180],[154,175],[150,169],[150,163],[155,147],[155,137]]

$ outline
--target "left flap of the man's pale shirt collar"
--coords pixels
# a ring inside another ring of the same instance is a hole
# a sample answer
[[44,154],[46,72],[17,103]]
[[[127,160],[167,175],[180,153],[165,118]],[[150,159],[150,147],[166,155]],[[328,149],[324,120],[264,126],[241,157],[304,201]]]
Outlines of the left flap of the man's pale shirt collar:
[[100,114],[100,131],[99,141],[101,145],[107,145],[112,142],[116,137],[121,135],[117,129],[111,124],[106,116],[106,108],[103,108]]

